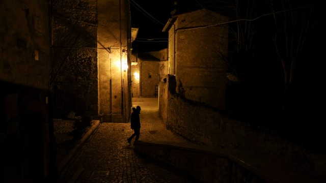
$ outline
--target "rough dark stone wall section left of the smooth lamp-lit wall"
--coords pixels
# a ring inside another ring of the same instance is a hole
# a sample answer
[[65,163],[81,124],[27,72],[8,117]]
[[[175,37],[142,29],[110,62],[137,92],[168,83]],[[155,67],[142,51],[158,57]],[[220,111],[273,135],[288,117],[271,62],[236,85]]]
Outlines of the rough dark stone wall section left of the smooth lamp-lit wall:
[[52,1],[55,116],[98,114],[97,1]]

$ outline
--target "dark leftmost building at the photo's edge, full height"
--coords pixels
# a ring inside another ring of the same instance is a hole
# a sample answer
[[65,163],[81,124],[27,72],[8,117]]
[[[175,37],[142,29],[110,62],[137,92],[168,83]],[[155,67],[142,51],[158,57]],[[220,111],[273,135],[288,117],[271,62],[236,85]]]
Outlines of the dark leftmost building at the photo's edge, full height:
[[0,182],[55,176],[49,1],[0,1]]

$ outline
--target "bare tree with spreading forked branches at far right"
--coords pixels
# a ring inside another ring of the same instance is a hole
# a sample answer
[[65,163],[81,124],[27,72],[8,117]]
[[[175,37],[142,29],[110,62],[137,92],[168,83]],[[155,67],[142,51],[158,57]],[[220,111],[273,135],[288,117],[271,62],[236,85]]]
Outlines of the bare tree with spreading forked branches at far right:
[[273,12],[275,32],[272,36],[284,71],[283,107],[285,112],[289,112],[298,64],[303,61],[306,40],[318,19],[313,16],[314,5],[307,4],[307,1],[268,0],[267,4]]

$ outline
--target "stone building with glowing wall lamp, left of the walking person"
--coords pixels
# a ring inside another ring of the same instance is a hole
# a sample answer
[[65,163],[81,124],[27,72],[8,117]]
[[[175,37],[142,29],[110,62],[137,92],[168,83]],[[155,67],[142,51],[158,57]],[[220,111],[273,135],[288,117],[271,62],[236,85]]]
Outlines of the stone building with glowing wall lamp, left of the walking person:
[[[53,70],[58,117],[69,112],[103,121],[130,114],[128,1],[52,1]],[[129,67],[128,67],[129,66]]]

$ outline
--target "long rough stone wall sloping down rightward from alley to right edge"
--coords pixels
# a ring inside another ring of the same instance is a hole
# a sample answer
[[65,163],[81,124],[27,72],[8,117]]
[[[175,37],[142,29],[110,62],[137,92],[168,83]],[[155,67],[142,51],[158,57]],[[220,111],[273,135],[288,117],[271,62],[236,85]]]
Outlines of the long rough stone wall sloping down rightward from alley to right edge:
[[263,128],[253,130],[246,121],[237,120],[203,103],[185,99],[176,93],[174,76],[167,79],[167,83],[160,83],[160,93],[165,96],[159,96],[159,110],[167,128],[173,133],[197,144],[284,158],[292,162],[297,170],[326,179],[324,155],[310,153],[276,133]]

